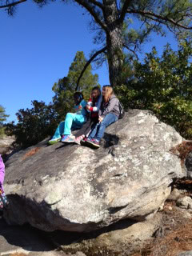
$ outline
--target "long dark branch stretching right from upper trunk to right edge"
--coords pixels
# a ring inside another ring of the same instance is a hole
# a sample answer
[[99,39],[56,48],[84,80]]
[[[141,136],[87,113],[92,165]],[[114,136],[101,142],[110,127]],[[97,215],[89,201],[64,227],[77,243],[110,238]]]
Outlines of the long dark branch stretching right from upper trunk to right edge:
[[174,24],[175,26],[178,26],[178,27],[182,27],[183,29],[192,30],[192,26],[182,25],[181,23],[178,23],[178,22],[174,21],[174,19],[172,19],[172,18],[163,17],[162,15],[154,14],[150,11],[146,11],[146,10],[127,10],[127,13],[128,14],[141,14],[141,15],[147,16],[147,18],[151,18],[151,19],[158,18],[158,21],[159,21],[159,19],[161,19],[162,21],[170,22],[171,24]]

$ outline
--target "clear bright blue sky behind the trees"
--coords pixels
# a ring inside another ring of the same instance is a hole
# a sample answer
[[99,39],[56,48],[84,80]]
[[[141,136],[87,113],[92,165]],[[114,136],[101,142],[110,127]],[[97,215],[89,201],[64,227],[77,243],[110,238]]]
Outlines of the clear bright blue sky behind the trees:
[[[0,10],[0,105],[10,114],[7,121],[17,121],[19,109],[31,108],[31,101],[46,103],[54,96],[51,88],[58,78],[68,74],[71,62],[78,50],[89,58],[95,48],[89,29],[90,16],[77,4],[53,2],[39,8],[33,2],[18,6],[14,17]],[[153,36],[143,47],[144,53],[157,46],[161,54],[166,38]],[[101,85],[109,83],[106,65],[95,70]]]

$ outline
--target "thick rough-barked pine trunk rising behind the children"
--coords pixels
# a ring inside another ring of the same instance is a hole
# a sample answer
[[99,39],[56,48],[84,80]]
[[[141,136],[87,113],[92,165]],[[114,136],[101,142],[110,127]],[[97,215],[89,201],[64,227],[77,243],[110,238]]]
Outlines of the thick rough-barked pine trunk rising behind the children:
[[122,73],[122,24],[118,24],[116,1],[103,0],[105,6],[105,22],[107,26],[106,46],[110,74],[110,85],[118,86]]

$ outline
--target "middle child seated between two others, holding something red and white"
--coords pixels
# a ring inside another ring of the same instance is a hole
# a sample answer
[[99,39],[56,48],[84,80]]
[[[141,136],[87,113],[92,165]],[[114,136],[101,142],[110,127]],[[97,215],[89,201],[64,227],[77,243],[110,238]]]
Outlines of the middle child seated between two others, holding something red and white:
[[94,86],[91,90],[90,100],[87,102],[86,110],[90,112],[90,118],[88,122],[86,122],[80,130],[78,130],[77,134],[75,134],[75,143],[80,145],[80,142],[86,140],[86,136],[89,135],[90,130],[93,126],[98,123],[98,110],[101,106],[102,95],[101,90],[98,86]]

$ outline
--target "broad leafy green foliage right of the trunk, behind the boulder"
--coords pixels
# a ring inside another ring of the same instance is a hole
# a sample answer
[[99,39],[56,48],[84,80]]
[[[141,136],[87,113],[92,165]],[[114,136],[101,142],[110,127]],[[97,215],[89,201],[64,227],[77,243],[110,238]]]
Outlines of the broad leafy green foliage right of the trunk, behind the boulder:
[[192,139],[192,47],[178,51],[167,45],[162,57],[154,48],[144,63],[134,62],[134,74],[116,92],[126,108],[152,110],[163,122]]

